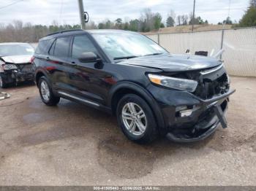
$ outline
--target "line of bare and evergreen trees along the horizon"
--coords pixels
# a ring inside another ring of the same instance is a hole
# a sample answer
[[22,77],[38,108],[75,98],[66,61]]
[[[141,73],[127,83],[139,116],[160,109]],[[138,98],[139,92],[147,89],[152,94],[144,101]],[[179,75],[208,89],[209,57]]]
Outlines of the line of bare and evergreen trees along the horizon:
[[[129,31],[148,32],[158,31],[159,28],[172,26],[187,26],[192,25],[207,25],[208,20],[203,20],[202,17],[196,16],[193,18],[192,13],[189,15],[177,15],[173,10],[167,14],[167,19],[163,20],[159,12],[152,12],[151,9],[143,9],[140,17],[129,20],[125,18],[117,18],[116,20],[105,19],[98,24],[94,21],[86,23],[86,29],[123,29]],[[239,23],[234,22],[227,17],[226,20],[218,23],[233,24],[235,27],[256,26],[256,0],[250,0],[250,4],[244,16]],[[53,20],[50,26],[32,25],[31,23],[23,23],[20,20],[14,20],[8,25],[0,23],[0,42],[38,42],[40,38],[47,34],[80,28],[80,25],[59,25]]]

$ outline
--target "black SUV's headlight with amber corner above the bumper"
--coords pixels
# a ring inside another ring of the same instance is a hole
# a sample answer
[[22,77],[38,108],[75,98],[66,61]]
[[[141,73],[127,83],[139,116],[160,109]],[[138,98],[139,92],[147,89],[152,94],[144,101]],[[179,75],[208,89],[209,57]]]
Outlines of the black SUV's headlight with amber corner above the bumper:
[[195,80],[192,79],[165,77],[156,74],[148,74],[148,77],[154,84],[170,87],[177,90],[186,90],[189,92],[194,92],[198,84]]

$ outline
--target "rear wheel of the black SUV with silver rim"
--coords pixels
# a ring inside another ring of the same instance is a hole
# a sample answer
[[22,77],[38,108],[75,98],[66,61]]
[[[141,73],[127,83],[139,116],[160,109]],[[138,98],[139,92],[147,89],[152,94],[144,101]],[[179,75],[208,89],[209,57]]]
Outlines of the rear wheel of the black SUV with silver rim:
[[47,106],[56,106],[59,104],[60,97],[53,94],[52,87],[50,87],[50,82],[46,77],[40,77],[38,87],[42,102],[44,102]]

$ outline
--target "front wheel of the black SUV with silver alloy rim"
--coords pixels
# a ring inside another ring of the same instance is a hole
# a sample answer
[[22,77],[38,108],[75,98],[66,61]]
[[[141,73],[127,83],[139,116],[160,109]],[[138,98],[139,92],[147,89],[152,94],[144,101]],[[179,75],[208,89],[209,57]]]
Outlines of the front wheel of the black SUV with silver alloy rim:
[[146,144],[157,138],[157,122],[143,98],[135,94],[124,95],[116,109],[118,125],[128,139]]

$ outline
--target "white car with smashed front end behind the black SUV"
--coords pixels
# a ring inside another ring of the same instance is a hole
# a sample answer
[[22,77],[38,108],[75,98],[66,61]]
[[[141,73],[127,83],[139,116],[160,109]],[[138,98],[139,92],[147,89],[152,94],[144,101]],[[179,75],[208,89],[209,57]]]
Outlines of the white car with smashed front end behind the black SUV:
[[34,80],[33,54],[34,47],[28,43],[0,43],[0,87]]

